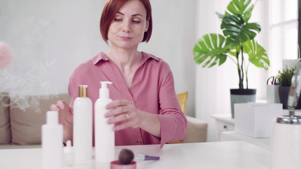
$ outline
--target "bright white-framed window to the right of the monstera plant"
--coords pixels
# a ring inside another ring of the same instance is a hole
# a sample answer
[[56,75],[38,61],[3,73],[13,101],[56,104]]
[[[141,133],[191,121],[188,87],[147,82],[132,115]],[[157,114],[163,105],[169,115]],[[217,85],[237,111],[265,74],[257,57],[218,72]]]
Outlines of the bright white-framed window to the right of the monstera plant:
[[270,73],[282,70],[283,59],[298,58],[297,0],[269,0]]

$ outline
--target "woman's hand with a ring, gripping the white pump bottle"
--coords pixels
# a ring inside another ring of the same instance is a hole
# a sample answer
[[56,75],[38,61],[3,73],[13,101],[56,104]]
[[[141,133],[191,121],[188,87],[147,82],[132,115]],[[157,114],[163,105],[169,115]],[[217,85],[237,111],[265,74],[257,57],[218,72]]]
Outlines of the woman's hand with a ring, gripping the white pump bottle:
[[106,108],[111,109],[104,114],[105,117],[109,118],[107,120],[108,124],[127,120],[119,125],[115,125],[113,127],[114,130],[120,130],[127,127],[143,128],[145,117],[148,115],[146,112],[136,109],[132,104],[132,101],[129,100],[114,100],[108,103]]

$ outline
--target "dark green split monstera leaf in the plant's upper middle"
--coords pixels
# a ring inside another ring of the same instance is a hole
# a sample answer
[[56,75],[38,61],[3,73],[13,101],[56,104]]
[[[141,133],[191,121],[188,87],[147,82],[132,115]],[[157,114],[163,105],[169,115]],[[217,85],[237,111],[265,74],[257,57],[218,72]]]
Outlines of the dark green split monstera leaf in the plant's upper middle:
[[225,36],[229,36],[227,43],[238,45],[253,39],[260,32],[261,27],[257,23],[245,23],[241,14],[235,14],[224,16],[221,29]]

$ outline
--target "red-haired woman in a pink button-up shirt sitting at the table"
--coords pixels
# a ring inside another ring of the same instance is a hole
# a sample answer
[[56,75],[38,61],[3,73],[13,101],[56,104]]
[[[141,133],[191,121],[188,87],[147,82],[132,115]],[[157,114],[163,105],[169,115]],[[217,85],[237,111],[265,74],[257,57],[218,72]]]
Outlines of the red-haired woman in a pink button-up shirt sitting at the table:
[[[110,98],[105,113],[114,123],[115,145],[160,144],[182,139],[187,119],[178,101],[173,73],[163,59],[137,51],[138,44],[152,34],[149,0],[107,0],[100,19],[102,38],[111,48],[77,66],[70,77],[71,103],[52,104],[64,126],[64,142],[72,140],[73,101],[77,86],[86,84],[94,103],[100,81],[108,85]],[[94,114],[94,111],[93,111]],[[94,116],[94,115],[93,115]],[[94,120],[93,120],[94,135]],[[94,145],[94,138],[93,138]]]

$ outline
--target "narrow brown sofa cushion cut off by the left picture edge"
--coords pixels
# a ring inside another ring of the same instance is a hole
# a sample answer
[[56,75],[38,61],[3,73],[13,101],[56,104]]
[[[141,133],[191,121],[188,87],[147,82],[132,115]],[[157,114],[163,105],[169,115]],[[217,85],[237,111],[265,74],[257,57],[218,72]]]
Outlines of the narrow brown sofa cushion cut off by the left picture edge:
[[8,92],[0,93],[0,144],[10,144],[12,140],[10,126],[10,95]]

